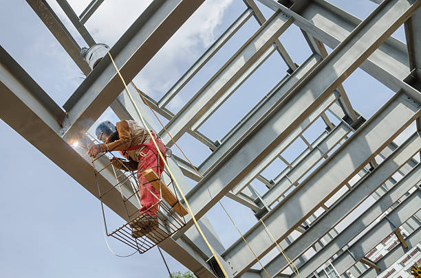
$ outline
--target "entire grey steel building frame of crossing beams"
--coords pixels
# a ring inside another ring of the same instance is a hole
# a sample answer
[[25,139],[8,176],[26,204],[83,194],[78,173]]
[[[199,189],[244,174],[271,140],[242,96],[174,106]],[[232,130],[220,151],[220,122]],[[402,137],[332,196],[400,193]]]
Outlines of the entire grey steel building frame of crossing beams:
[[[103,0],[92,0],[79,16],[66,0],[56,1],[86,44],[94,45],[96,41],[84,24]],[[139,115],[109,57],[91,71],[80,56],[80,45],[47,1],[27,2],[87,78],[60,107],[0,48],[0,117],[96,196],[89,159],[69,145],[74,140],[87,140],[87,126],[109,106],[120,119],[139,120]],[[203,2],[154,0],[140,14],[110,50],[127,81]],[[241,238],[224,248],[206,218],[206,212],[224,196],[252,209],[256,218],[266,223],[301,276],[329,277],[332,273],[327,273],[325,266],[333,266],[334,276],[376,277],[421,241],[421,168],[414,159],[421,150],[421,0],[374,1],[378,7],[363,21],[324,0],[259,2],[273,10],[270,19],[265,19],[254,0],[244,0],[244,12],[160,100],[142,92],[153,110],[169,120],[166,129],[173,139],[187,133],[213,151],[197,167],[203,178],[180,157],[169,159],[169,165],[188,192],[186,198],[193,213],[229,277],[267,275],[263,269],[251,268],[257,260]],[[171,113],[166,106],[173,97],[252,16],[259,29],[178,113]],[[301,29],[312,49],[302,65],[296,65],[279,40],[293,24]],[[391,37],[400,25],[404,25],[406,45]],[[327,54],[325,45],[334,49],[332,53]],[[274,51],[288,67],[284,78],[219,141],[199,132],[198,128]],[[342,86],[358,67],[396,93],[369,119],[354,110]],[[140,96],[133,97],[149,125],[160,132],[167,146],[172,146],[166,132],[154,124]],[[17,110],[20,117],[15,117]],[[326,111],[337,117],[339,124],[332,124]],[[32,119],[30,125],[28,118]],[[303,132],[319,118],[326,128],[309,142]],[[393,143],[414,121],[417,132],[400,146]],[[296,139],[303,140],[307,148],[288,162],[281,153]],[[379,158],[381,163],[376,161]],[[268,180],[261,172],[276,159],[288,167]],[[400,181],[396,181],[396,173],[402,176]],[[184,176],[197,185],[191,189]],[[358,182],[352,185],[355,177]],[[111,172],[101,172],[101,189],[111,187],[113,178]],[[252,185],[255,179],[268,187],[265,194],[259,194]],[[330,203],[338,194],[341,196]],[[338,231],[336,225],[369,196],[376,202]],[[114,189],[103,202],[125,218],[118,200],[120,192]],[[190,217],[187,223],[160,247],[197,277],[221,277]],[[400,233],[401,227],[409,232],[406,238]],[[294,231],[301,235],[292,237]],[[378,262],[365,257],[391,233],[398,235],[400,246]],[[259,258],[277,246],[259,221],[244,238]],[[271,277],[294,276],[285,274],[287,267],[281,254],[265,266]]]

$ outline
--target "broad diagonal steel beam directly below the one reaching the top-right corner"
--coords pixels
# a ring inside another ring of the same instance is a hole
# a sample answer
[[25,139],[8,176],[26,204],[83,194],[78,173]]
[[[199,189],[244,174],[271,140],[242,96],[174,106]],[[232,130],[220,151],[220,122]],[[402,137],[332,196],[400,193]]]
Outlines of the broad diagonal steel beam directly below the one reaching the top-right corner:
[[[374,117],[366,121],[343,145],[318,167],[294,192],[281,200],[263,221],[275,240],[281,241],[301,222],[319,209],[338,189],[343,187],[355,174],[393,140],[411,121],[421,113],[405,101],[405,95],[396,95],[383,106]],[[396,119],[399,118],[399,121]],[[323,185],[323,187],[318,186]],[[261,223],[255,224],[244,238],[253,251],[262,257],[274,243],[266,234]],[[248,247],[237,240],[222,254],[227,262],[242,270],[255,264],[255,257]]]

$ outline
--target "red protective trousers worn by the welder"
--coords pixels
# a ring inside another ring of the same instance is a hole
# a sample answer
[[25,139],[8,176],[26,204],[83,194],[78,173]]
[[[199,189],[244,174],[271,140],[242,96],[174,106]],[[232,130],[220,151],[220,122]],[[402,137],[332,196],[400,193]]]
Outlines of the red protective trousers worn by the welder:
[[[153,135],[155,137],[155,135]],[[158,192],[149,181],[142,175],[142,172],[147,169],[152,169],[160,178],[161,174],[164,171],[165,163],[162,161],[160,154],[156,150],[155,144],[149,140],[149,143],[144,144],[142,152],[139,154],[139,164],[138,164],[138,180],[139,180],[139,194],[140,194],[140,213],[146,211],[150,216],[156,216],[158,213],[158,205],[155,205],[160,200],[160,192]],[[160,152],[163,157],[166,159],[166,149],[164,143],[160,139],[155,137],[155,142],[158,143]],[[144,157],[142,156],[144,154]],[[152,207],[155,205],[155,207]],[[152,208],[151,208],[152,207]]]

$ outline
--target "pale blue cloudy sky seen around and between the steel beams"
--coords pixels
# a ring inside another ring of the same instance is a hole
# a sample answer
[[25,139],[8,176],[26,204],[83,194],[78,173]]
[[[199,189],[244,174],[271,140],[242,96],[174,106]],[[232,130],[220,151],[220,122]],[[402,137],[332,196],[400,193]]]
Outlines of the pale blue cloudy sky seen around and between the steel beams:
[[[1,46],[58,104],[63,104],[83,81],[83,74],[25,1],[0,2],[3,7],[0,10]],[[47,2],[63,16],[55,1]],[[376,8],[376,4],[368,0],[349,2],[332,1],[361,19]],[[86,5],[86,1],[69,3],[77,14]],[[149,1],[139,4],[131,0],[125,5],[116,5],[113,1],[105,1],[87,22],[87,29],[97,42],[113,45],[147,3]],[[268,18],[272,12],[258,5]],[[241,0],[207,1],[140,72],[135,78],[136,84],[158,100],[245,9]],[[65,23],[78,43],[84,45],[74,28],[67,21]],[[257,22],[250,19],[170,103],[171,111],[177,112],[258,27]],[[404,41],[402,27],[394,36]],[[294,62],[300,64],[310,55],[310,48],[296,26],[290,27],[280,40]],[[285,76],[286,69],[275,51],[199,130],[210,139],[221,139]],[[356,110],[366,118],[393,95],[360,69],[344,82],[344,87]],[[113,119],[115,116],[112,114],[107,111],[102,118]],[[322,128],[323,123],[318,120],[305,136],[312,141]],[[2,277],[166,277],[166,269],[155,248],[145,255],[129,258],[118,258],[109,253],[102,235],[98,200],[3,121],[0,121],[0,130],[0,153],[3,157],[0,170],[3,189],[3,198],[0,198]],[[210,154],[208,148],[189,135],[184,135],[179,142],[196,165]],[[297,141],[285,151],[284,156],[292,161],[303,148],[303,143]],[[177,150],[174,152],[178,154]],[[263,174],[273,178],[283,167],[285,164],[277,160]],[[193,181],[190,183],[194,185]],[[263,193],[263,185],[259,182],[255,185]],[[242,232],[255,223],[249,209],[227,198],[223,202]],[[237,231],[220,207],[213,207],[208,218],[213,221],[226,247],[237,240]],[[111,245],[120,253],[129,252],[115,242]],[[171,270],[184,270],[175,259],[168,255],[166,258]]]

